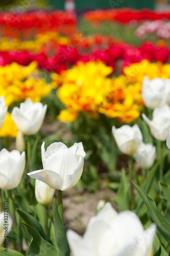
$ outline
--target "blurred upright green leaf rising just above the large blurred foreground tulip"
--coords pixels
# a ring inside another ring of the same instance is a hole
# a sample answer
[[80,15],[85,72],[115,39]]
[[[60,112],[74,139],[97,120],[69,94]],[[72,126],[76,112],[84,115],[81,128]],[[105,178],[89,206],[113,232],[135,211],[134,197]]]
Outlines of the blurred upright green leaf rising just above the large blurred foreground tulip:
[[125,170],[122,170],[122,176],[120,177],[120,186],[116,194],[116,203],[118,204],[120,211],[129,210],[130,207],[130,178],[126,175]]

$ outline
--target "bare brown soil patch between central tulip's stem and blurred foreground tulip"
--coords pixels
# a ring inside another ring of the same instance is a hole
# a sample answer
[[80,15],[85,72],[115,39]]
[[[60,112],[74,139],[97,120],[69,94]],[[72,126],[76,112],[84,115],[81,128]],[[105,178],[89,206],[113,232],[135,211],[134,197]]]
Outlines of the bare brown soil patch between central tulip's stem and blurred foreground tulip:
[[[100,187],[95,194],[84,191],[78,194],[76,188],[63,192],[64,226],[83,234],[91,217],[96,215],[96,206],[101,199],[111,201],[115,193]],[[116,205],[113,207],[117,209]]]

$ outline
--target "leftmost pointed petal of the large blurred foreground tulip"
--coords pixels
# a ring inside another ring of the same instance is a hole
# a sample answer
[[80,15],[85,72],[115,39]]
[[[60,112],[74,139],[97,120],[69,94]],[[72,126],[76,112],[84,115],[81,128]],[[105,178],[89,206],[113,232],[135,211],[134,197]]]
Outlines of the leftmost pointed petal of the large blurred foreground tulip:
[[68,230],[67,239],[74,256],[99,256],[88,248],[88,244],[76,232]]

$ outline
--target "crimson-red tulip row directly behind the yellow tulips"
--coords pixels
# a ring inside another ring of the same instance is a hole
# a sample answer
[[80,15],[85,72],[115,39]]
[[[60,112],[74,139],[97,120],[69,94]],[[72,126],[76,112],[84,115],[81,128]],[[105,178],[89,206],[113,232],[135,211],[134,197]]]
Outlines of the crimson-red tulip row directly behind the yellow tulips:
[[108,49],[92,49],[87,53],[81,53],[74,45],[58,46],[56,53],[52,56],[48,54],[35,53],[30,51],[1,51],[0,66],[5,66],[11,62],[20,65],[28,65],[32,61],[37,61],[38,67],[48,72],[55,71],[60,73],[70,65],[76,65],[78,61],[87,62],[90,60],[102,60],[107,66],[115,68],[117,60],[122,59],[122,67],[129,66],[131,63],[140,62],[142,59],[150,61],[167,62],[170,51],[164,47],[158,47],[151,42],[146,42],[140,47],[130,46],[125,43],[115,44]]

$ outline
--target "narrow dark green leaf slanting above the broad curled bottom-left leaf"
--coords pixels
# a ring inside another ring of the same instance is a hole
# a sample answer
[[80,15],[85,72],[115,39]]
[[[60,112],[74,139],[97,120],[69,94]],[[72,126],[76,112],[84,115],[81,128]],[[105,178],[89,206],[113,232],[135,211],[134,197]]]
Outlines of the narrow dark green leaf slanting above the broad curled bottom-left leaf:
[[33,226],[40,233],[40,236],[44,240],[51,242],[50,239],[44,233],[41,224],[32,215],[20,209],[17,209],[17,212],[23,221],[25,221],[28,225]]

